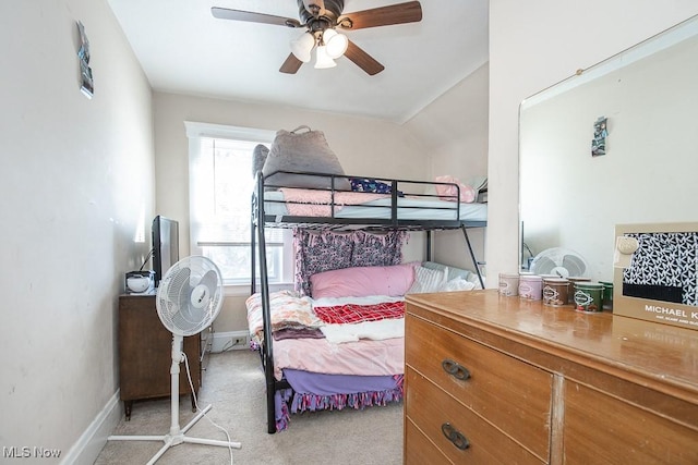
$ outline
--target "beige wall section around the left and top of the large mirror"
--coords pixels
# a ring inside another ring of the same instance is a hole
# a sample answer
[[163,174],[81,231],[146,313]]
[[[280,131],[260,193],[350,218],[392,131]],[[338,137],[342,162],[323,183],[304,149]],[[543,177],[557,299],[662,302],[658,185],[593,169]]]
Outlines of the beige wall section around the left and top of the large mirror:
[[698,13],[695,0],[490,2],[489,286],[518,269],[518,106]]

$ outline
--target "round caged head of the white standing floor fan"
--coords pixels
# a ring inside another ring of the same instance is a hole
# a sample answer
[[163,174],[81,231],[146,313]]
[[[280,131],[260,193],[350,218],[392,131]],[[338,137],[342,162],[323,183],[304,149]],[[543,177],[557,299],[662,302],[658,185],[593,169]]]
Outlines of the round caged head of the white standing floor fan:
[[203,256],[186,257],[176,262],[160,281],[156,298],[158,317],[173,334],[197,334],[216,319],[222,297],[222,280],[216,264]]

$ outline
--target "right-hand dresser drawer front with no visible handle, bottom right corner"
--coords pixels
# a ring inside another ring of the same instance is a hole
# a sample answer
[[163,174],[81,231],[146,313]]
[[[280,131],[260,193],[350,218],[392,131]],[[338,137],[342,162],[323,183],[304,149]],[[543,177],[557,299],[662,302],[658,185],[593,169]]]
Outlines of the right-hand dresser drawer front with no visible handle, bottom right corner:
[[571,381],[563,437],[568,464],[698,464],[698,431]]

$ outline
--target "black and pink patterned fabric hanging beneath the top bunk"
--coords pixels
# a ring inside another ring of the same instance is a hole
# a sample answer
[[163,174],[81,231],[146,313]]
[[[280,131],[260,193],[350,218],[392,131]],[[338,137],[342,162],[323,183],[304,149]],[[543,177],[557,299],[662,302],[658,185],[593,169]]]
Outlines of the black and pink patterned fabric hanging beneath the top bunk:
[[311,295],[310,277],[350,267],[387,267],[402,262],[406,231],[369,233],[293,230],[296,291]]

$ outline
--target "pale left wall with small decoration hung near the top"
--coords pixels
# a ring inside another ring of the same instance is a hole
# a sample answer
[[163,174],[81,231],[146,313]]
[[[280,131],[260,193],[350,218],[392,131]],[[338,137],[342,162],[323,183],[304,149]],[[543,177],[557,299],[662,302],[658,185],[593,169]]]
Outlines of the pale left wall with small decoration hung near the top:
[[105,0],[0,2],[0,446],[92,463],[120,406],[117,297],[149,247],[151,89]]

